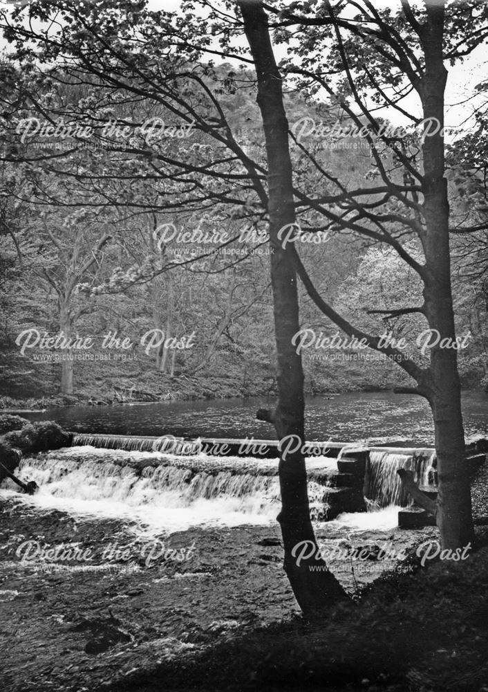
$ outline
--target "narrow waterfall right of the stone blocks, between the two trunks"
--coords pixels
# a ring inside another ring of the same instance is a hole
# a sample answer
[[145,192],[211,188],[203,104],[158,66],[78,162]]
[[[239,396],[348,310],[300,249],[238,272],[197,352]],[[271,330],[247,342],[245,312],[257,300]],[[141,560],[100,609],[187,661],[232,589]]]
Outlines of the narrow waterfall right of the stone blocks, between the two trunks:
[[380,507],[407,507],[412,501],[406,495],[397,474],[399,468],[412,471],[420,486],[432,484],[435,453],[419,449],[413,453],[400,454],[390,450],[371,450],[366,463],[364,496],[370,509]]

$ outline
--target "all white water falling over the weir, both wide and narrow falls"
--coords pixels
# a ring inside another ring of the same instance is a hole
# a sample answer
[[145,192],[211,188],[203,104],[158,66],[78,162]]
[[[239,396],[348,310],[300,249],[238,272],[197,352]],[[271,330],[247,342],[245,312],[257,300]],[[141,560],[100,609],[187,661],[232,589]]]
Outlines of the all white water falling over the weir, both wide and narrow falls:
[[[73,444],[21,460],[21,479],[34,480],[40,488],[32,498],[22,496],[24,502],[93,516],[120,516],[159,532],[202,525],[263,524],[274,521],[279,512],[277,458],[212,455],[203,453],[200,440],[171,435],[76,434]],[[341,446],[339,459],[306,459],[312,519],[326,518],[337,505],[337,497],[350,490],[346,487],[348,471],[342,469],[338,474],[338,461],[358,459],[358,452],[364,455],[367,451],[364,444]],[[378,510],[391,512],[408,505],[397,470],[409,468],[415,481],[426,486],[433,483],[434,463],[432,450],[370,449],[364,481],[368,509],[379,519]],[[366,520],[364,514],[359,521],[354,510],[346,511],[353,513],[341,515],[342,520],[353,524]],[[388,522],[395,525],[394,519],[388,518]]]

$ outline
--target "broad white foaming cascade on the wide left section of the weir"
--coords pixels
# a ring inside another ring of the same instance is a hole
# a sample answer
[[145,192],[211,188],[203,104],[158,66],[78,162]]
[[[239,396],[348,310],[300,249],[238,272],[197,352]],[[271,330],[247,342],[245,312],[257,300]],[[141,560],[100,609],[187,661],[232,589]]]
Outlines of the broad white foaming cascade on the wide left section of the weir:
[[[328,462],[311,464],[312,502],[326,498]],[[22,459],[17,473],[40,488],[25,502],[118,516],[158,531],[265,524],[279,512],[277,462],[269,459],[72,447]]]

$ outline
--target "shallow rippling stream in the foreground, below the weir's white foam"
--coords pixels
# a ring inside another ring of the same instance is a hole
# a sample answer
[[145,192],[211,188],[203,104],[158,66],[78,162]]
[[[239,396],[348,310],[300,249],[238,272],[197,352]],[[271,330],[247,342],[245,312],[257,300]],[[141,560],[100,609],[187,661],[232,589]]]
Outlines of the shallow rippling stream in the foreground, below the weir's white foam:
[[[278,525],[144,536],[131,522],[43,511],[12,494],[0,507],[6,692],[118,691],[141,671],[299,617]],[[378,561],[382,545],[401,552],[435,533],[331,522],[318,538],[358,594],[401,564]]]

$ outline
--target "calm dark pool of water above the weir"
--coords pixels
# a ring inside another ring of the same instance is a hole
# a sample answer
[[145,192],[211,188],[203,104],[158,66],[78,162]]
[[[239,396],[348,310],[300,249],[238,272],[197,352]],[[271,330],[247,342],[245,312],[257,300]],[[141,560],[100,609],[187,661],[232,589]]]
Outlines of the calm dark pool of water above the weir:
[[[488,397],[468,392],[462,399],[467,437],[488,437]],[[32,420],[55,420],[66,430],[117,435],[176,435],[274,439],[272,426],[256,421],[258,408],[272,408],[263,399],[219,399],[117,406],[71,406],[23,414]],[[395,439],[405,446],[433,445],[428,403],[415,395],[391,392],[310,397],[306,406],[306,437],[310,440],[355,442]]]

